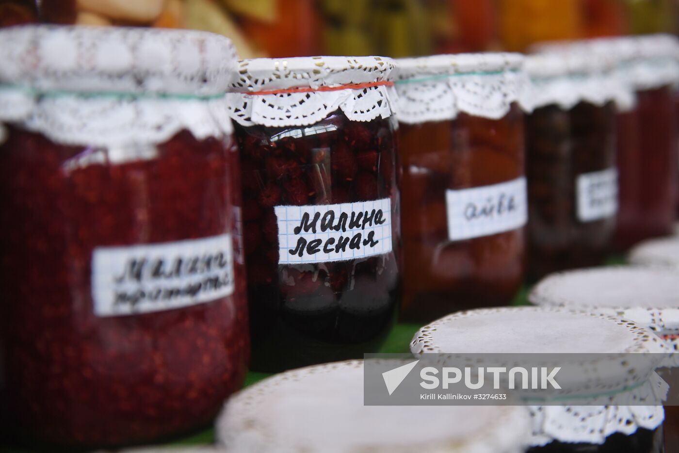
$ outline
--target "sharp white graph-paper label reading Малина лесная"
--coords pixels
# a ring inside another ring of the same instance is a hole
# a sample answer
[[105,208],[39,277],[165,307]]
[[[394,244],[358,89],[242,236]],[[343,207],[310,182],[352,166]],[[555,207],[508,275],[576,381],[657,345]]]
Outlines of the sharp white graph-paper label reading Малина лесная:
[[278,264],[326,263],[390,253],[391,200],[276,206]]

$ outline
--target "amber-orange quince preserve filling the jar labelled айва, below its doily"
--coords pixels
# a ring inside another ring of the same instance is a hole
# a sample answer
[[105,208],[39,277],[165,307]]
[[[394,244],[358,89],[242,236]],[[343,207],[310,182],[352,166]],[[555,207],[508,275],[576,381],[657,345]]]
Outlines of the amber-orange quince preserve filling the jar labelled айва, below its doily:
[[[447,191],[524,177],[523,126],[516,105],[500,120],[460,113],[452,121],[401,123],[405,319],[431,321],[456,310],[506,305],[518,291],[524,228],[452,240],[446,197]],[[501,215],[512,203],[497,196],[492,206],[475,204],[465,219]]]

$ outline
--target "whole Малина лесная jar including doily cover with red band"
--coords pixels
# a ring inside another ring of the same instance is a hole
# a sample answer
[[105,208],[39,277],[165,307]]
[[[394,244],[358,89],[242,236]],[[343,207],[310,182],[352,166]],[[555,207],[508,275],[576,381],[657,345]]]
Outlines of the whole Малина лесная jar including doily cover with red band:
[[374,352],[401,302],[393,62],[240,62],[240,146],[252,368]]

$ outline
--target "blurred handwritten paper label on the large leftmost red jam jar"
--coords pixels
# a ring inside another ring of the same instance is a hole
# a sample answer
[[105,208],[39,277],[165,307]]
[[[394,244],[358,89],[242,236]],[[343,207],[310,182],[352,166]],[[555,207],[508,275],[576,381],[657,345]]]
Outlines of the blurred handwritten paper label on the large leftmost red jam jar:
[[230,234],[210,238],[96,247],[92,299],[97,316],[172,310],[234,292]]

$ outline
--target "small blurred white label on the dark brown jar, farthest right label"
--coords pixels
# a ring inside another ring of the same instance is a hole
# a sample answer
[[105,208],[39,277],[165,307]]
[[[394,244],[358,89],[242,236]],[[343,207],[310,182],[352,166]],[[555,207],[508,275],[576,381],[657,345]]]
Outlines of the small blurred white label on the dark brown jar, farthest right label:
[[590,222],[618,212],[618,172],[615,168],[584,173],[577,180],[578,219]]

